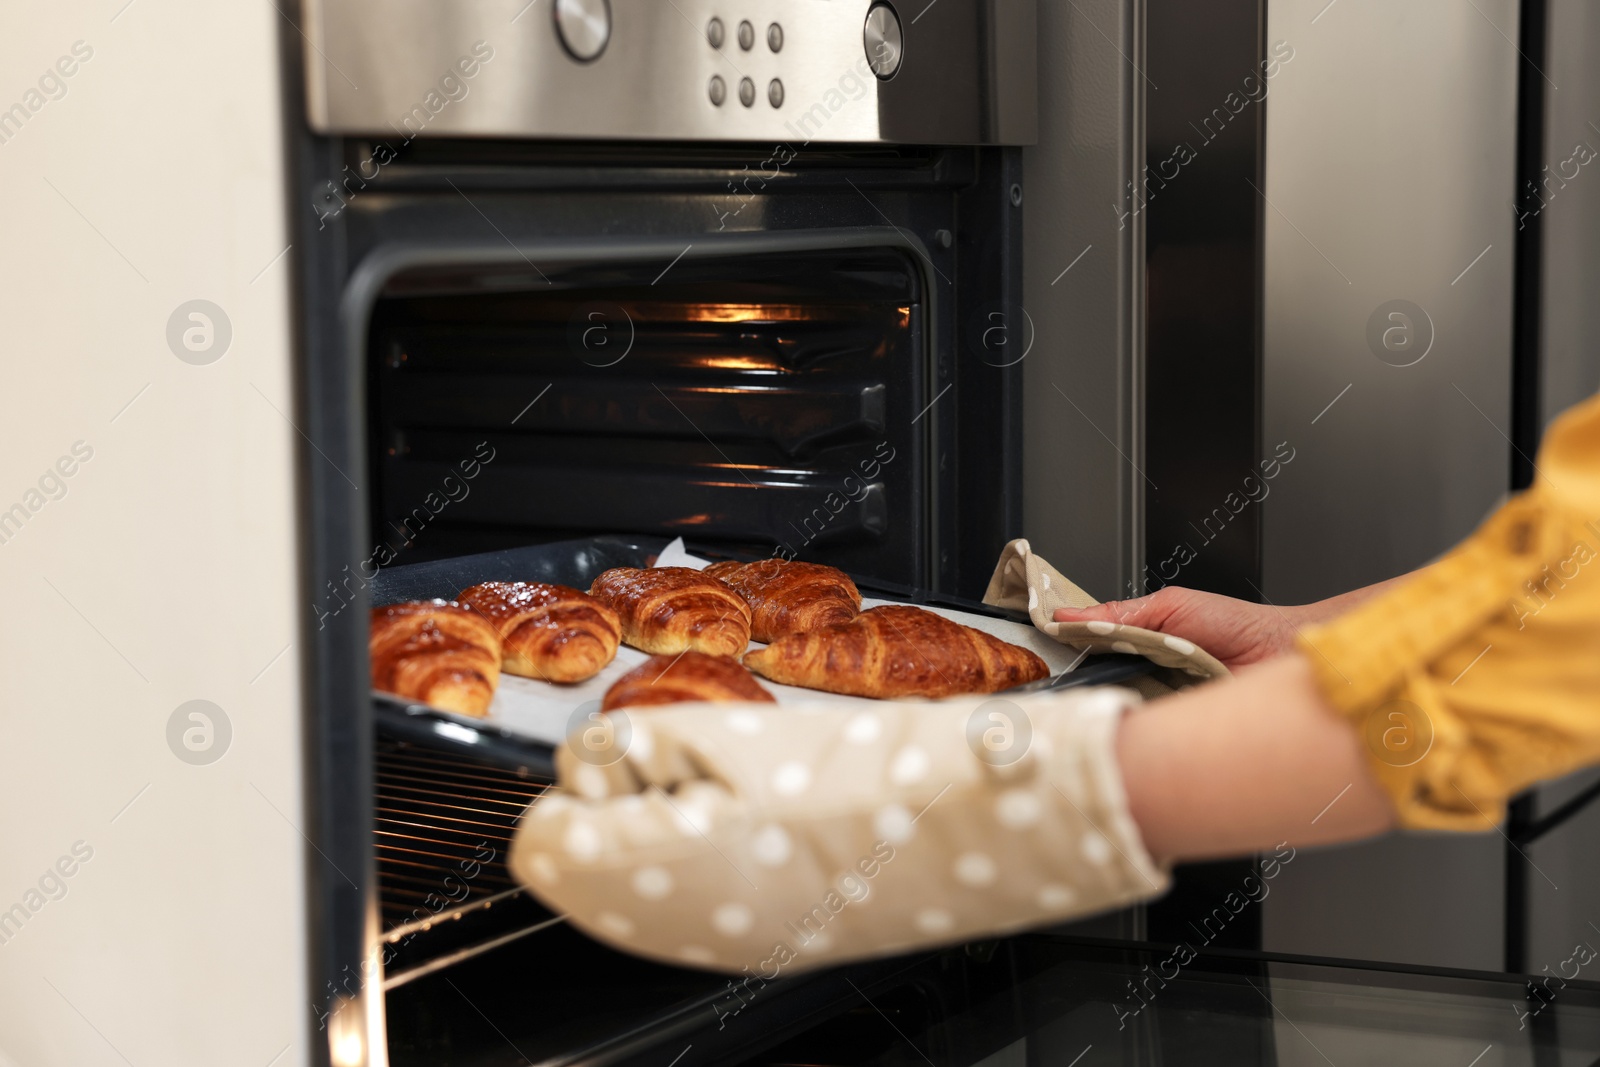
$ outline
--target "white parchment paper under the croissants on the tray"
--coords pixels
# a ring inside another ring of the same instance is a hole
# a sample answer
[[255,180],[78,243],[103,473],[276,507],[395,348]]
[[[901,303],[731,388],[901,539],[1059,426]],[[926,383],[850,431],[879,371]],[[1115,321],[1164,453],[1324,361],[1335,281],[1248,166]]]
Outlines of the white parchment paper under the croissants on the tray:
[[[683,542],[675,541],[669,544],[659,553],[656,566],[696,566],[704,568],[706,560],[683,552]],[[898,603],[891,600],[877,600],[872,597],[864,597],[861,601],[862,608],[875,608],[878,605]],[[1010,641],[1013,645],[1021,645],[1038,654],[1040,659],[1050,667],[1051,675],[1058,675],[1062,670],[1072,667],[1082,659],[1077,649],[1059,645],[1051,638],[1040,633],[1032,625],[1024,622],[1011,622],[1010,619],[995,619],[990,616],[973,614],[968,611],[958,611],[954,608],[939,608],[920,605],[925,611],[933,611],[934,614],[942,614],[947,619],[970,625],[974,630],[982,630],[1002,641]],[[750,641],[750,648],[765,648],[757,641]],[[486,717],[472,715],[454,715],[440,709],[435,710],[440,717],[451,718],[461,723],[469,723],[475,726],[493,726],[501,731],[510,733],[517,737],[526,741],[542,742],[549,745],[562,744],[566,736],[582,723],[592,712],[600,709],[600,699],[605,696],[606,689],[621,678],[624,673],[637,667],[638,664],[650,659],[648,653],[642,653],[635,648],[622,645],[618,648],[616,659],[613,659],[606,667],[587,681],[579,681],[573,685],[555,685],[550,681],[539,681],[536,678],[520,678],[517,675],[502,673],[499,688],[494,693],[494,701],[490,704],[490,712]],[[771,693],[779,704],[798,704],[798,702],[830,702],[837,705],[870,705],[877,704],[870,697],[862,696],[842,696],[835,693],[821,693],[818,689],[802,689],[798,686],[776,685],[766,678],[757,678],[768,693]]]

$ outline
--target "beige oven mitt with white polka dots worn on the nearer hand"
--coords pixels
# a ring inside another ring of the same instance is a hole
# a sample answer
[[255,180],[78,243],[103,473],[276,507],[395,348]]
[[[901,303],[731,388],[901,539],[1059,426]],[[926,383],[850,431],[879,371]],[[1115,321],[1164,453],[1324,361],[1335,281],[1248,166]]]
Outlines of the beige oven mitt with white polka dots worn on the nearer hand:
[[510,870],[624,952],[765,979],[1158,896],[1115,757],[1139,697],[683,704],[557,752]]

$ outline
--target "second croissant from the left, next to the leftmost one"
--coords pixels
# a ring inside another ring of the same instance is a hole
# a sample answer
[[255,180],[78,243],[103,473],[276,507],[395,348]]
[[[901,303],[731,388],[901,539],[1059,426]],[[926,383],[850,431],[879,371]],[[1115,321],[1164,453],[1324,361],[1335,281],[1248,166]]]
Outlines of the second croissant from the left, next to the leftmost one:
[[616,656],[622,627],[603,603],[566,585],[483,582],[456,600],[499,630],[501,669],[544,681],[592,678]]

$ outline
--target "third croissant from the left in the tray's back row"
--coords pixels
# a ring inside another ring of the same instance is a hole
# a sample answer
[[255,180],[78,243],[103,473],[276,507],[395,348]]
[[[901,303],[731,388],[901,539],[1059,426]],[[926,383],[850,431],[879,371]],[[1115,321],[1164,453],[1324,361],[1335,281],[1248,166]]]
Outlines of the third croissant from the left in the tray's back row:
[[744,597],[688,566],[616,566],[589,595],[616,611],[622,640],[642,653],[738,656],[750,643]]

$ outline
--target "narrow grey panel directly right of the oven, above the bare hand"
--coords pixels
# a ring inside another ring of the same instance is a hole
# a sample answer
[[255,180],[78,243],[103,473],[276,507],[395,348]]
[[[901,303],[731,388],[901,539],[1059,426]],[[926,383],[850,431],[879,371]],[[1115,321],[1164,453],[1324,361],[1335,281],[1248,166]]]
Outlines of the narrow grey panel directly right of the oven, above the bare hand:
[[1034,549],[1093,595],[1126,593],[1141,531],[1136,355],[1142,166],[1136,0],[1038,13],[1042,136],[1024,150],[1022,507]]

